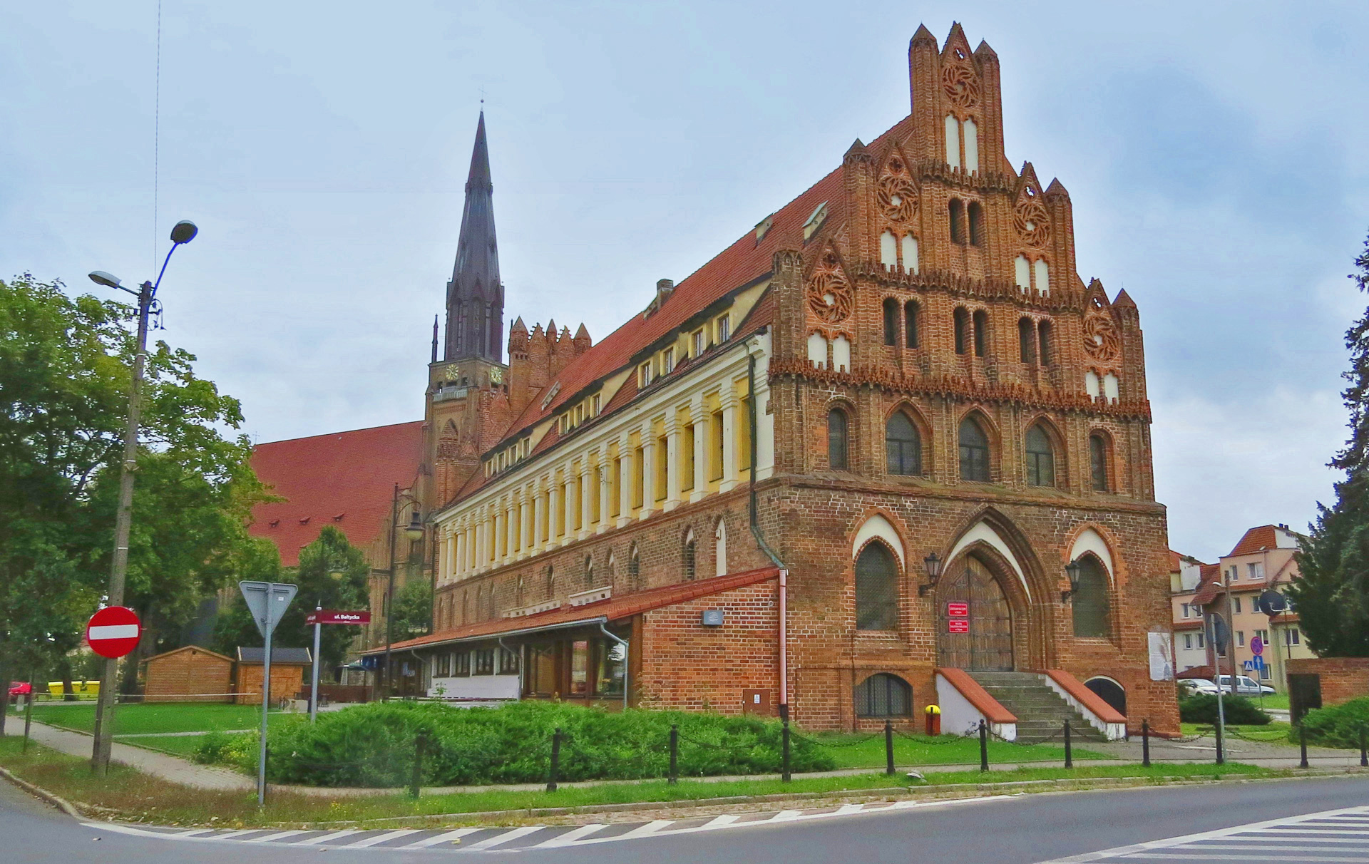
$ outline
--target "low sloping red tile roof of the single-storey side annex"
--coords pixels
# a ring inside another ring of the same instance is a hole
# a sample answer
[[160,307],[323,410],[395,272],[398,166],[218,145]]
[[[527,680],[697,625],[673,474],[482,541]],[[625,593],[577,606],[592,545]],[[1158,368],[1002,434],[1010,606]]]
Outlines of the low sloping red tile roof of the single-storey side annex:
[[[661,587],[653,587],[645,592],[632,592],[631,594],[623,594],[622,597],[609,597],[608,600],[587,602],[582,607],[563,605],[546,612],[538,612],[537,615],[496,618],[487,622],[463,624],[461,627],[453,627],[452,630],[444,630],[442,633],[396,642],[390,648],[392,650],[398,650],[422,648],[424,645],[441,645],[442,642],[460,642],[481,637],[494,638],[500,634],[512,633],[515,630],[533,630],[537,627],[571,624],[596,618],[606,618],[613,622],[631,618],[642,612],[650,612],[652,609],[672,607],[698,597],[708,597],[709,594],[746,587],[747,585],[773,579],[778,575],[778,567],[763,567],[760,570],[747,570],[746,572],[734,572],[726,576],[709,576],[708,579],[697,579],[694,582],[676,582],[675,585],[663,585]],[[385,648],[372,648],[361,653],[375,655],[382,653],[383,650]]]

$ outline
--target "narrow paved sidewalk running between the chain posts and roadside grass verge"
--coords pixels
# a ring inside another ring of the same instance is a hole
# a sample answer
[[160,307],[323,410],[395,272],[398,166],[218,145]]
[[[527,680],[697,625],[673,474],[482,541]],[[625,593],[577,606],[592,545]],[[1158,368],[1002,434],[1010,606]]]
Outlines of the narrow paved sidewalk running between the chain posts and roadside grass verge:
[[[93,738],[85,733],[73,733],[60,728],[53,728],[51,726],[44,726],[42,723],[33,724],[31,737],[38,744],[47,745],[62,753],[70,756],[89,757]],[[1098,753],[1109,753],[1116,759],[1090,759],[1079,760],[1076,765],[1128,765],[1140,763],[1140,741],[1112,741],[1106,744],[1087,742],[1080,749],[1094,750]],[[1198,738],[1195,741],[1176,744],[1164,738],[1150,739],[1150,759],[1153,763],[1212,763],[1216,756],[1216,739],[1213,738]],[[170,780],[172,783],[179,783],[182,786],[190,786],[194,789],[212,789],[212,790],[234,790],[246,791],[256,789],[256,780],[253,778],[245,776],[235,771],[227,768],[215,768],[209,765],[197,765],[189,760],[179,759],[177,756],[170,756],[167,753],[159,753],[155,750],[148,750],[144,748],[131,746],[127,744],[114,742],[111,756],[114,761],[129,765],[142,771],[144,774],[151,774],[152,776]],[[1255,741],[1243,741],[1239,738],[1229,739],[1227,742],[1227,759],[1228,761],[1246,763],[1253,765],[1261,765],[1264,768],[1296,768],[1299,763],[1299,752],[1295,745],[1287,744],[1265,744]],[[1313,768],[1350,768],[1359,765],[1359,754],[1353,750],[1333,750],[1328,748],[1307,748],[1307,761]],[[1016,768],[1031,768],[1031,767],[1050,767],[1055,763],[994,763],[991,767],[995,771],[1013,771]],[[921,774],[941,774],[950,771],[976,771],[979,763],[972,764],[950,764],[950,765],[901,765],[899,772],[917,771]],[[876,768],[845,768],[841,771],[815,771],[810,774],[795,774],[794,778],[826,778],[826,776],[852,776],[857,774],[869,774]],[[724,783],[731,780],[767,780],[779,779],[778,774],[754,774],[754,775],[739,775],[739,776],[708,776],[708,778],[689,778],[690,780],[705,782],[705,783]],[[561,786],[609,786],[609,785],[627,785],[639,783],[642,780],[580,780],[574,783],[561,783]],[[277,791],[292,791],[304,796],[319,796],[319,797],[356,797],[356,796],[386,796],[404,791],[402,789],[356,789],[356,787],[320,787],[320,786],[286,786],[286,785],[271,785],[272,790]],[[511,783],[507,786],[433,786],[424,787],[423,794],[426,796],[439,796],[439,794],[459,794],[459,793],[474,793],[474,791],[537,791],[545,789],[545,783]]]

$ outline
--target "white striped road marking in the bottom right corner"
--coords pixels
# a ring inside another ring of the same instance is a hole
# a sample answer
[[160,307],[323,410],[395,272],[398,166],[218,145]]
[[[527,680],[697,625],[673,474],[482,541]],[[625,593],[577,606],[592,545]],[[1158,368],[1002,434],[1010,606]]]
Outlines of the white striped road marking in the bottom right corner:
[[1359,861],[1369,863],[1369,806],[1270,819],[1233,828],[1053,859],[1084,861]]

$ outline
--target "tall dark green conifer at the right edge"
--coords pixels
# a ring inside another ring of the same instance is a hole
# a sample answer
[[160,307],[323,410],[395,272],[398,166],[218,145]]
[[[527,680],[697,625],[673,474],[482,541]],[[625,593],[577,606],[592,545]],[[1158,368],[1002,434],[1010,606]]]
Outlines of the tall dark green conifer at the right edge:
[[[1350,275],[1369,293],[1369,240]],[[1321,656],[1369,656],[1369,309],[1346,331],[1350,440],[1331,460],[1346,472],[1336,503],[1318,504],[1317,522],[1298,555],[1301,576],[1288,596],[1298,607],[1307,646]]]

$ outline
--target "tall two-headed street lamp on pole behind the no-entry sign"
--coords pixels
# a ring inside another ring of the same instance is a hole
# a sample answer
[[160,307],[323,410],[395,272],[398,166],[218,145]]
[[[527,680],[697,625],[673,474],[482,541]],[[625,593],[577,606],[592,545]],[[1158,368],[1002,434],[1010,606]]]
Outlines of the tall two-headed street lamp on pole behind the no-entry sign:
[[[123,433],[123,464],[119,468],[119,508],[115,511],[114,522],[114,559],[110,563],[110,592],[108,605],[123,605],[123,583],[129,572],[129,531],[133,526],[133,472],[138,460],[138,419],[141,414],[142,368],[148,359],[148,316],[157,301],[157,288],[162,286],[162,277],[171,263],[171,253],[177,246],[194,240],[200,229],[193,222],[181,220],[171,229],[171,248],[167,251],[162,270],[157,271],[156,282],[144,282],[138,290],[125,288],[119,278],[103,270],[90,274],[90,281],[105,288],[116,288],[134,294],[138,298],[138,346],[133,355],[133,383],[129,387],[129,422]],[[100,675],[100,701],[94,713],[94,750],[90,754],[90,767],[99,776],[110,771],[110,746],[114,737],[114,689],[115,678],[119,672],[119,661],[108,659],[104,661],[104,672]]]

